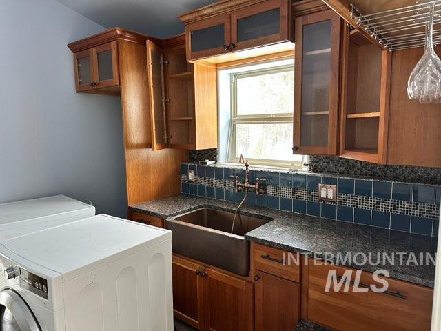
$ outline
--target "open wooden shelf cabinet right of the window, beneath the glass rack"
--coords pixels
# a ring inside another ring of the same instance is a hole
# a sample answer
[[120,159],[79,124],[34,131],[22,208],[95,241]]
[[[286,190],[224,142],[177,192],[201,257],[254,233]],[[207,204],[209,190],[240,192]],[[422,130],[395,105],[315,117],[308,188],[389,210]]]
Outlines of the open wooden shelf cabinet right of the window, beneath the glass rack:
[[345,27],[342,55],[340,157],[386,163],[391,54]]

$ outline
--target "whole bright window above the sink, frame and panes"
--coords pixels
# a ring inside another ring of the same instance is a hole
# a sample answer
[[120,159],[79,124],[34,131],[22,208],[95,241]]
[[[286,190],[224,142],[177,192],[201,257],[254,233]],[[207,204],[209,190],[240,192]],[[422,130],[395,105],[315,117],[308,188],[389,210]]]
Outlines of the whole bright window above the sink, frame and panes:
[[[230,69],[227,74],[230,87],[229,128],[219,130],[221,134],[228,132],[225,161],[238,162],[243,154],[254,165],[300,168],[303,157],[293,155],[291,149],[293,61],[260,63],[239,70]],[[227,79],[220,77],[219,81],[222,89]],[[226,110],[227,107],[220,107],[221,112]]]

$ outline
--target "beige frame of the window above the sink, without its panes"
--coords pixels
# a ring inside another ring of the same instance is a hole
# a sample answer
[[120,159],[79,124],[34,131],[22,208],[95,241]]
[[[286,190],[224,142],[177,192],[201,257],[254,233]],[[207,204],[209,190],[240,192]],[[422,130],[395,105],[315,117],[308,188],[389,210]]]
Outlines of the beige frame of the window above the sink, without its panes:
[[[238,157],[236,157],[236,125],[237,124],[291,124],[293,126],[294,121],[294,108],[292,112],[287,113],[274,113],[274,114],[247,114],[239,115],[237,109],[237,81],[240,78],[256,77],[263,74],[274,74],[279,72],[292,72],[294,79],[294,66],[292,64],[285,64],[282,66],[274,66],[271,68],[263,68],[256,70],[249,70],[246,72],[237,72],[230,74],[230,95],[231,95],[231,114],[230,114],[230,126],[229,137],[227,143],[227,158],[228,162],[238,163]],[[293,93],[294,97],[294,93]],[[293,127],[294,128],[294,127]],[[293,132],[294,134],[294,132]],[[288,161],[288,160],[274,160],[274,159],[255,159],[245,155],[248,161],[257,165],[274,165],[282,168],[296,168],[300,169],[303,166],[303,159],[301,161]]]

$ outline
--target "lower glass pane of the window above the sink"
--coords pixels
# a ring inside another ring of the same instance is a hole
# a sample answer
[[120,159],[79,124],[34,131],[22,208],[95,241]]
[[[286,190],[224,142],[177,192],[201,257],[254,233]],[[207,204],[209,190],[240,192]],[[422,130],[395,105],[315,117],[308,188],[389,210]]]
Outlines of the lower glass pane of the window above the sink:
[[236,155],[249,159],[301,161],[292,154],[292,123],[236,124]]

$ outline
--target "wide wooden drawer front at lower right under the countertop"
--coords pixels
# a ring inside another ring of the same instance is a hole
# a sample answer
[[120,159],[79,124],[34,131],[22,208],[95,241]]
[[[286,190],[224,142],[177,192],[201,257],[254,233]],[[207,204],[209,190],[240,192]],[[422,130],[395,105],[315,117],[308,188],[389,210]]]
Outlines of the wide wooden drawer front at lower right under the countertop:
[[[430,330],[433,290],[396,279],[387,279],[387,292],[343,292],[342,285],[334,292],[331,283],[325,292],[329,270],[342,277],[351,270],[351,282],[356,270],[335,265],[309,264],[308,318],[336,330]],[[371,273],[362,272],[359,288],[381,283],[373,281]],[[397,292],[399,294],[397,294]]]

